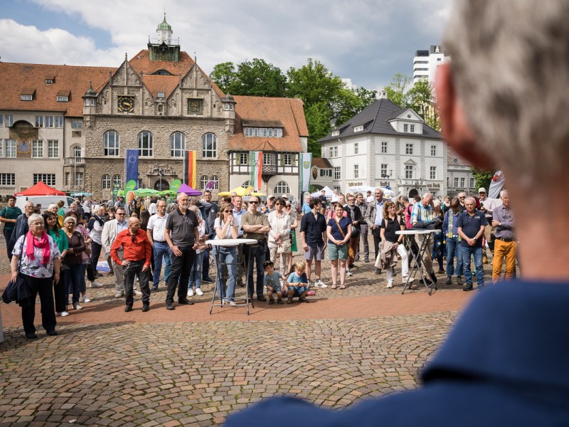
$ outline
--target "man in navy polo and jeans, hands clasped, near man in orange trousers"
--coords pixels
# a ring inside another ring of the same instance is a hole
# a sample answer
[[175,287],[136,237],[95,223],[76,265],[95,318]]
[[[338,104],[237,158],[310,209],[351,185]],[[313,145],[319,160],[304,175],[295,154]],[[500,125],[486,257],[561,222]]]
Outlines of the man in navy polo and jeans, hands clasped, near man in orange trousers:
[[470,257],[474,257],[474,268],[476,268],[476,281],[478,290],[484,288],[484,270],[482,268],[482,236],[486,227],[486,216],[484,212],[476,210],[476,199],[467,197],[464,200],[467,210],[462,212],[457,219],[458,235],[460,241],[460,257],[462,258],[462,268],[464,278],[467,283],[462,290],[472,290],[472,270],[470,270]]

